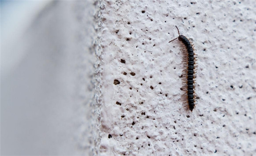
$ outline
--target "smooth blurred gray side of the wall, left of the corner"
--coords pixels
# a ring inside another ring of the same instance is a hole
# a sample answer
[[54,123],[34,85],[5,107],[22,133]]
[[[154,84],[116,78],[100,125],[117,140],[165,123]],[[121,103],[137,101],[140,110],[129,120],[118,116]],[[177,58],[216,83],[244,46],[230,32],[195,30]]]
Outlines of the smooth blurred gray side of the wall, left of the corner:
[[51,1],[1,46],[1,155],[92,155],[96,6]]

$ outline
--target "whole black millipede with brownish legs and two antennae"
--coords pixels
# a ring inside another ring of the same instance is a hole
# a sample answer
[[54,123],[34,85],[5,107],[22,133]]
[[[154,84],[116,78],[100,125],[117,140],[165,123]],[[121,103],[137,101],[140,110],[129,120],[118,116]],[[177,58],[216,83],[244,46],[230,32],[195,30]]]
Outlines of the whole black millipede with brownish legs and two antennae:
[[[186,79],[183,79],[185,82],[185,86],[181,87],[181,90],[186,90],[186,93],[182,95],[185,98],[184,102],[188,104],[188,109],[193,111],[196,107],[196,93],[195,93],[195,83],[196,83],[196,60],[197,55],[194,52],[194,45],[187,39],[187,37],[180,34],[180,31],[177,26],[175,26],[178,30],[179,37],[174,38],[172,41],[179,40],[182,43],[182,52],[184,54],[184,76]],[[172,41],[169,41],[172,42]],[[182,75],[183,76],[183,75]]]

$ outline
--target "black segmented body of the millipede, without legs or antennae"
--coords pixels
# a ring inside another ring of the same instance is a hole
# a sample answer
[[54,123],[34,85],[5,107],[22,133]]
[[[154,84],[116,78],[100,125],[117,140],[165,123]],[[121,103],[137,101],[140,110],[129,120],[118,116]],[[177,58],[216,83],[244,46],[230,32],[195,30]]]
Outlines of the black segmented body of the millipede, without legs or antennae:
[[189,107],[189,110],[192,111],[195,106],[195,100],[194,100],[195,57],[194,57],[192,45],[190,44],[188,39],[183,35],[180,35],[178,39],[184,44],[188,52],[188,70],[187,70],[188,107]]

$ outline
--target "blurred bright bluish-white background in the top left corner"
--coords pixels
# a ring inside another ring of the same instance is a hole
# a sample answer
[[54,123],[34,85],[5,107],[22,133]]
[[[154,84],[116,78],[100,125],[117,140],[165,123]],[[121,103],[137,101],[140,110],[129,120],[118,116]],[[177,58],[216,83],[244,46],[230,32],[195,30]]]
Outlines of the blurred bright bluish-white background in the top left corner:
[[[3,0],[0,2],[1,11],[1,57],[2,74],[9,74],[16,68],[26,55],[26,51],[11,51],[14,43],[19,42],[39,12],[52,0]],[[6,52],[8,51],[8,52]],[[24,52],[24,53],[23,53]],[[15,57],[13,57],[15,56]]]

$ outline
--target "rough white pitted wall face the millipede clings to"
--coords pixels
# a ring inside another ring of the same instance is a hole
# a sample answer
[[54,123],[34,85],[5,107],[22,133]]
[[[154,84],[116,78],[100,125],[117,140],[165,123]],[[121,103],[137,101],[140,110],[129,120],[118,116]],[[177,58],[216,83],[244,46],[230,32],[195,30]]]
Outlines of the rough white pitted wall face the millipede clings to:
[[[256,4],[102,0],[98,29],[99,155],[256,152]],[[196,109],[181,99],[181,43],[198,54]]]

